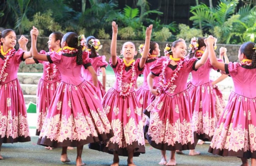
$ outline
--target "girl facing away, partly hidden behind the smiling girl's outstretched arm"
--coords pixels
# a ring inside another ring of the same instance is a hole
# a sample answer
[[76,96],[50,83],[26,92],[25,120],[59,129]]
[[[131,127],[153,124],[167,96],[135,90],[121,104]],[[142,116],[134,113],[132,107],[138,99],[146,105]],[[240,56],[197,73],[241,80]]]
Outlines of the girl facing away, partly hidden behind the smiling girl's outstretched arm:
[[[191,39],[189,45],[189,58],[196,57],[200,59],[205,53],[206,45],[205,38]],[[225,57],[228,60],[227,57]],[[223,61],[219,59],[219,61]],[[228,61],[227,61],[228,62]],[[216,128],[217,114],[216,112],[223,112],[220,107],[216,108],[216,98],[218,97],[213,90],[213,82],[210,81],[210,71],[217,70],[214,68],[210,60],[197,71],[192,71],[192,79],[188,83],[188,91],[190,95],[190,102],[192,106],[192,127],[194,130],[195,146],[199,139],[203,141],[211,141]],[[223,75],[224,78],[227,75]],[[217,83],[216,81],[214,83]],[[218,100],[219,101],[219,100]],[[200,152],[190,150],[189,155],[198,155]]]

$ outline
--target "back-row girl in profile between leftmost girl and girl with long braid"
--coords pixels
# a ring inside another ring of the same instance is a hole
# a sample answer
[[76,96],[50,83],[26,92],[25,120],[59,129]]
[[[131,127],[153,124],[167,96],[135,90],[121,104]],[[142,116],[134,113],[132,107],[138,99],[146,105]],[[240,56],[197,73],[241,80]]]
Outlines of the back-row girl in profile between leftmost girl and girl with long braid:
[[[52,51],[58,53],[61,51],[61,39],[63,34],[60,32],[53,32],[49,36],[48,48],[50,52],[45,52],[42,50],[40,54],[50,54]],[[51,103],[52,97],[55,93],[61,81],[61,74],[55,64],[50,64],[47,61],[41,61],[33,58],[28,58],[25,60],[25,64],[43,64],[43,75],[38,82],[37,86],[37,125],[36,125],[36,135],[40,135],[42,125],[44,123],[46,114],[48,112],[49,105]],[[51,149],[51,147],[47,147]]]

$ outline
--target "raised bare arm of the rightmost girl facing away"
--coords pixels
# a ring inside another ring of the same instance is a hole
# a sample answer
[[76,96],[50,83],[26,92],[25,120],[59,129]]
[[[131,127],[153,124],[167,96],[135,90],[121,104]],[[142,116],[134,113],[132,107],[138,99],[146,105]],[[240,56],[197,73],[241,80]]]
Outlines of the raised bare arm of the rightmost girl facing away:
[[215,42],[215,38],[213,38],[213,37],[208,37],[206,39],[206,43],[207,43],[208,49],[209,49],[210,62],[213,67],[215,67],[221,71],[225,71],[225,64],[223,62],[218,62],[217,58],[215,56],[215,51],[214,51],[214,47],[213,47],[214,42]]

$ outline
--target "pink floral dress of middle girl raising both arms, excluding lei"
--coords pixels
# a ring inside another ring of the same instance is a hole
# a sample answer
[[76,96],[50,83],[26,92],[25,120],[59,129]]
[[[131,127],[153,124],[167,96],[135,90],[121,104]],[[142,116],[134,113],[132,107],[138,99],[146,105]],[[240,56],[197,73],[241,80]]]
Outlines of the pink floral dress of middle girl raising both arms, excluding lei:
[[[139,70],[139,61],[135,62],[136,74],[142,74],[143,70]],[[113,68],[111,59],[109,62]],[[117,58],[117,65],[113,68],[115,75],[119,75],[118,68],[123,65],[123,60]],[[132,69],[124,71],[124,82],[129,82]],[[134,89],[134,87],[133,87]],[[134,150],[134,156],[145,153],[145,140],[143,134],[142,108],[138,106],[135,91],[130,96],[120,96],[118,91],[118,80],[115,81],[102,100],[102,105],[107,114],[114,136],[106,144],[105,152],[113,153],[116,150],[119,155],[127,156],[128,149]]]

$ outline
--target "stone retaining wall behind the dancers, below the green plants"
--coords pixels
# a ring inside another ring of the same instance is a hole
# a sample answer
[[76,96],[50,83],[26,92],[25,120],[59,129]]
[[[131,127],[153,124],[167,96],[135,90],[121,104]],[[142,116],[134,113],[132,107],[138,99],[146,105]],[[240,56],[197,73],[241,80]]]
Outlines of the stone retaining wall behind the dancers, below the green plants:
[[[31,38],[27,35],[25,35],[29,42],[27,44],[27,48],[31,47]],[[19,39],[20,35],[17,35],[17,40]],[[110,58],[110,44],[111,40],[100,40],[102,44],[102,49],[99,51],[100,55],[105,55],[106,60],[109,61]],[[45,50],[48,51],[48,37],[38,37],[37,39],[37,50]],[[122,45],[125,41],[117,41],[117,54],[120,54],[120,50],[122,48]],[[140,44],[143,44],[144,41],[133,41],[136,46],[139,46]],[[18,43],[18,41],[17,41]],[[161,50],[161,55],[163,55],[163,50],[165,48],[167,42],[158,42],[159,48]],[[217,44],[218,49],[216,50],[216,54],[219,54],[219,48],[220,47],[226,47],[227,48],[227,55],[229,58],[229,61],[235,62],[238,61],[237,55],[240,45],[225,45],[225,44]],[[16,49],[18,49],[19,45],[16,45]],[[139,58],[140,55],[137,55],[137,58]],[[19,72],[42,72],[43,66],[41,64],[33,64],[33,65],[25,65],[24,62],[20,64]]]

